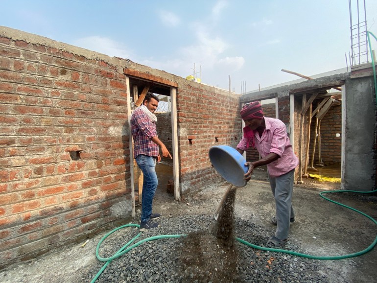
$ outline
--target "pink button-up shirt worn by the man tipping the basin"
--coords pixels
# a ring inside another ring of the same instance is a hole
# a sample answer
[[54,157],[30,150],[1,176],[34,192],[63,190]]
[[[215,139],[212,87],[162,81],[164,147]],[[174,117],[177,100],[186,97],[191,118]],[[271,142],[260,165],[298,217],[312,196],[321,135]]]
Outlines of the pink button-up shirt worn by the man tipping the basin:
[[[279,119],[264,117],[266,128],[262,136],[254,131],[255,148],[263,158],[273,152],[280,156],[279,159],[267,164],[268,173],[271,177],[278,177],[296,168],[299,161],[293,152],[292,145],[286,132],[284,123]],[[237,148],[246,150],[245,138],[238,143]]]

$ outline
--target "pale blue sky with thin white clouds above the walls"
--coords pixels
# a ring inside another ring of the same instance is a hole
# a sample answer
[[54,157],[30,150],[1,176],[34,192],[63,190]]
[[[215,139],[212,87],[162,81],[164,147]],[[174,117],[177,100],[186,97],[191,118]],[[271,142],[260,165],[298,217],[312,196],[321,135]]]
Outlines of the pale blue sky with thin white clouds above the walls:
[[[363,11],[363,1],[359,10]],[[377,0],[365,0],[377,37]],[[350,66],[348,0],[0,0],[0,25],[237,94]],[[357,0],[351,0],[357,23]],[[364,21],[360,13],[359,21]],[[376,40],[371,37],[373,49]],[[377,53],[377,52],[376,52]],[[370,59],[369,59],[370,60]]]

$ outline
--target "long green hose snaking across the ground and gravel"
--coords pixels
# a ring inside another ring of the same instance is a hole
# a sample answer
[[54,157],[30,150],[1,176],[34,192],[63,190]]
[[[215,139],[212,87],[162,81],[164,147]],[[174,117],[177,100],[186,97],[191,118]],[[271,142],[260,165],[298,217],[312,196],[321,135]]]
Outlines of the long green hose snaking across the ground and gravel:
[[[377,221],[372,218],[371,216],[365,214],[364,212],[360,212],[352,207],[349,207],[349,206],[346,206],[342,203],[339,203],[339,202],[336,202],[334,200],[331,200],[327,197],[324,196],[325,193],[332,193],[332,192],[355,192],[355,193],[375,193],[377,192],[377,189],[375,190],[372,190],[372,191],[356,191],[356,190],[329,190],[329,191],[323,191],[323,192],[320,192],[320,196],[323,197],[324,199],[332,202],[332,203],[335,203],[337,205],[340,205],[342,207],[345,207],[345,208],[348,208],[350,210],[353,210],[354,212],[357,212],[357,213],[360,213],[362,215],[364,215],[365,217],[369,218],[370,220],[372,220],[376,225],[377,225]],[[105,236],[103,236],[101,238],[101,240],[98,242],[97,244],[97,248],[95,249],[95,256],[97,257],[98,260],[100,261],[105,261],[106,263],[103,265],[103,267],[98,271],[98,273],[95,275],[94,279],[92,280],[91,283],[94,283],[98,277],[101,275],[101,273],[105,270],[105,268],[107,267],[107,265],[109,265],[109,263],[113,260],[113,259],[116,259],[118,257],[120,257],[121,255],[124,255],[125,253],[128,253],[130,250],[132,250],[133,248],[141,245],[142,243],[144,242],[148,242],[148,241],[153,241],[153,240],[157,240],[157,239],[165,239],[165,238],[179,238],[179,237],[185,237],[187,236],[186,234],[176,234],[176,235],[159,235],[159,236],[152,236],[152,237],[149,237],[149,238],[145,238],[139,242],[137,242],[136,244],[133,244],[132,246],[128,247],[134,240],[136,240],[139,236],[141,236],[141,233],[139,233],[137,236],[135,236],[132,240],[130,240],[127,244],[125,244],[121,249],[118,250],[118,252],[116,252],[114,254],[114,256],[110,257],[110,258],[102,258],[99,256],[99,247],[101,245],[101,243],[105,240],[106,237],[110,236],[111,234],[113,234],[114,232],[122,229],[122,228],[125,228],[125,227],[138,227],[140,228],[140,225],[138,224],[126,224],[126,225],[123,225],[123,226],[120,226],[114,230],[112,230],[111,232],[109,232],[108,234],[106,234]],[[375,240],[373,241],[373,243],[367,247],[366,249],[360,251],[360,252],[357,252],[357,253],[353,253],[353,254],[348,254],[348,255],[344,255],[344,256],[324,256],[324,257],[320,257],[320,256],[313,256],[313,255],[306,255],[306,254],[301,254],[301,253],[297,253],[297,252],[293,252],[293,251],[288,251],[288,250],[282,250],[282,249],[274,249],[274,248],[266,248],[266,247],[260,247],[260,246],[257,246],[257,245],[254,245],[252,243],[249,243],[245,240],[242,240],[240,238],[237,238],[236,237],[236,240],[242,244],[245,244],[249,247],[252,247],[252,248],[255,248],[255,249],[259,249],[259,250],[263,250],[263,251],[271,251],[271,252],[279,252],[279,253],[285,253],[285,254],[290,254],[290,255],[294,255],[294,256],[299,256],[299,257],[303,257],[303,258],[307,258],[307,259],[322,259],[322,260],[334,260],[334,259],[348,259],[348,258],[353,258],[353,257],[358,257],[358,256],[361,256],[367,252],[369,252],[370,250],[372,250],[374,248],[374,246],[376,245],[377,243],[377,236],[375,238]],[[128,247],[128,248],[127,248]]]

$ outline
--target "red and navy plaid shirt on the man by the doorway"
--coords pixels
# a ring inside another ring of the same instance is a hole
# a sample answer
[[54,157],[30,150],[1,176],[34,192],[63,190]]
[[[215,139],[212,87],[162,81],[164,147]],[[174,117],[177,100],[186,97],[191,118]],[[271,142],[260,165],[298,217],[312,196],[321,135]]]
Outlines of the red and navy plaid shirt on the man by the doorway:
[[131,116],[131,133],[134,139],[134,158],[140,154],[158,156],[159,146],[151,141],[157,136],[156,123],[139,108],[136,108]]

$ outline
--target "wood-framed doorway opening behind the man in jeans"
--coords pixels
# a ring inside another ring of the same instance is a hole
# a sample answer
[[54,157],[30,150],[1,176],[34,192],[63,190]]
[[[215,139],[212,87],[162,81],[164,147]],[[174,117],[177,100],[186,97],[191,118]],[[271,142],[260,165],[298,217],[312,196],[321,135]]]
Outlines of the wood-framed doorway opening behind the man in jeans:
[[[159,179],[157,190],[160,191],[165,188],[166,191],[167,185],[170,185],[173,188],[171,195],[175,199],[179,199],[176,87],[133,76],[126,76],[126,84],[129,129],[131,129],[130,120],[132,111],[141,105],[145,95],[153,93],[159,98],[159,107],[155,112],[158,118],[156,122],[157,134],[169,150],[173,159],[161,157],[161,162],[156,164],[156,173]],[[133,200],[132,214],[135,216],[135,207],[141,206],[143,176],[134,159],[131,130],[129,131],[129,139],[131,196]]]

